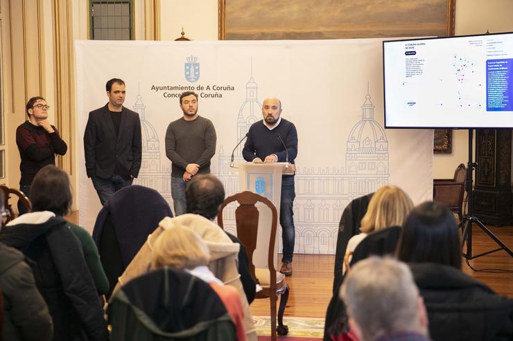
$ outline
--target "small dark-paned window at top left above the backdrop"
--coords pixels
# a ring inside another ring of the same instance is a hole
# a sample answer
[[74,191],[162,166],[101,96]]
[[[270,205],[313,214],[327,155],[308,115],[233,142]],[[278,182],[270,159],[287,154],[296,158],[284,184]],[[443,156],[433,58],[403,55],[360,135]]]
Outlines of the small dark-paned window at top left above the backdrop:
[[89,39],[134,39],[133,0],[89,0]]

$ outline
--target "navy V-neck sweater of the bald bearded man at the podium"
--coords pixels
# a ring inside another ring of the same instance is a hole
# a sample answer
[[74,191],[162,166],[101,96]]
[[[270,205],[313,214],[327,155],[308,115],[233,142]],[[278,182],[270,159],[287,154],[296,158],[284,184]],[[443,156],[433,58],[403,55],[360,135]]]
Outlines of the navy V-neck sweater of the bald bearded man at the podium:
[[278,157],[278,162],[285,162],[286,151],[278,134],[287,146],[288,162],[294,163],[297,156],[297,130],[292,122],[284,118],[281,118],[279,125],[272,130],[263,125],[263,120],[253,123],[247,133],[247,140],[242,151],[244,160],[248,162],[254,158],[263,160],[266,156],[275,154]]

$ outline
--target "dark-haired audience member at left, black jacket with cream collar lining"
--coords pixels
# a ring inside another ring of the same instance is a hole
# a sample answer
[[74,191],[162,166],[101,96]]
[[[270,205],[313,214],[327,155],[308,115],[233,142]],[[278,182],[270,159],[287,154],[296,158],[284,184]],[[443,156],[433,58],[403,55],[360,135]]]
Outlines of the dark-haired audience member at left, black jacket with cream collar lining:
[[[49,201],[47,209],[64,207],[66,194],[60,190],[65,192],[67,187],[69,191],[69,182],[67,176],[61,176],[62,171],[55,170],[58,169],[49,165],[37,173],[31,187],[35,212],[10,221],[1,229],[0,241],[33,260],[30,265],[37,289],[52,317],[54,341],[107,340],[101,299],[80,240],[62,216],[40,211],[45,196]],[[40,193],[42,190],[48,192]]]

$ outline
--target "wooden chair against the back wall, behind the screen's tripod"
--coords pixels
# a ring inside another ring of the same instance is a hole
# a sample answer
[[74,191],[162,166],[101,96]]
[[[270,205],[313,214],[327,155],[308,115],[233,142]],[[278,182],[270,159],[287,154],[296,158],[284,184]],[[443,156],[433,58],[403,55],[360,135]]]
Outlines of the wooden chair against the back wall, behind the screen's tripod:
[[467,168],[460,163],[451,179],[433,179],[433,201],[444,203],[450,210],[463,219],[463,199]]

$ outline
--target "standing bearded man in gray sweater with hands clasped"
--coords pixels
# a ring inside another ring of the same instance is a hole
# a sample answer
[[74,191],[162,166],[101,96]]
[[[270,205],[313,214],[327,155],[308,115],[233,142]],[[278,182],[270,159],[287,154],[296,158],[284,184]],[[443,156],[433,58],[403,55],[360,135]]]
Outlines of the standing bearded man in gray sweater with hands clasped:
[[186,212],[185,187],[196,174],[210,173],[216,154],[216,129],[211,120],[198,115],[198,95],[180,95],[184,116],[171,122],[166,131],[166,156],[171,160],[171,196],[175,216]]

